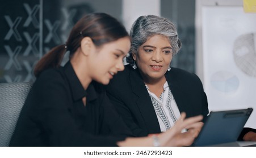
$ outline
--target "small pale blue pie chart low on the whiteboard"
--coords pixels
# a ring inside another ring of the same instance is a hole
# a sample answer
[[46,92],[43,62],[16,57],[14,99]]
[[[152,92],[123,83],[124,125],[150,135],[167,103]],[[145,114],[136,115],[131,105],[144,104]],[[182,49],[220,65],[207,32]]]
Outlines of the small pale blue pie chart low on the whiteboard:
[[230,93],[238,89],[239,80],[238,77],[231,72],[219,71],[212,75],[211,85],[218,91]]

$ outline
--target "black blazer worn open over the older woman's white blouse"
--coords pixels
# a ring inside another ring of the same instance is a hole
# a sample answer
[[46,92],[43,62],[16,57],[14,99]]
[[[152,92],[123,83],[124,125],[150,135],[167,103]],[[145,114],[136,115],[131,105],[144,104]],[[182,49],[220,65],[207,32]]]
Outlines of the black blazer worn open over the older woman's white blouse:
[[[187,117],[208,115],[207,96],[195,74],[171,68],[165,74],[180,112]],[[107,95],[136,136],[160,133],[160,125],[146,86],[139,71],[125,65],[106,87]]]

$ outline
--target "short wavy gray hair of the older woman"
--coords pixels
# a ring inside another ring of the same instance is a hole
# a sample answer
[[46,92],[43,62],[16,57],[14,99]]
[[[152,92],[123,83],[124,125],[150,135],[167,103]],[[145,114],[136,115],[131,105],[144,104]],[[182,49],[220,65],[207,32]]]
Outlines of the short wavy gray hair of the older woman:
[[131,28],[131,49],[129,50],[129,56],[126,58],[127,63],[130,65],[134,63],[132,54],[136,54],[139,47],[155,34],[161,34],[169,38],[173,47],[173,55],[181,49],[182,43],[179,41],[177,29],[170,20],[156,15],[140,16]]

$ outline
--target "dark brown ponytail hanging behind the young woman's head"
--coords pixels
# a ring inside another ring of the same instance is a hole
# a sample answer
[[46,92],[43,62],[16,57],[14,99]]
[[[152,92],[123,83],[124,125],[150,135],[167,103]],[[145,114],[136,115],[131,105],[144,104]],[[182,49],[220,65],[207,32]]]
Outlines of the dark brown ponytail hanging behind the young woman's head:
[[37,62],[33,71],[35,77],[38,77],[45,69],[59,67],[65,52],[65,45],[53,47],[53,49],[51,49],[39,60],[39,62]]

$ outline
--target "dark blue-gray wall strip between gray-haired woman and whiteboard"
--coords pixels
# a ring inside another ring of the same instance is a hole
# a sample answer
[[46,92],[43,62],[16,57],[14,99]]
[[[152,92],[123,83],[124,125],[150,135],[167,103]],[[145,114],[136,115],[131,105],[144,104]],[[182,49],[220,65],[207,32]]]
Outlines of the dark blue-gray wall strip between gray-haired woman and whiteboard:
[[195,72],[195,0],[161,0],[161,16],[173,21],[182,49],[171,66]]

